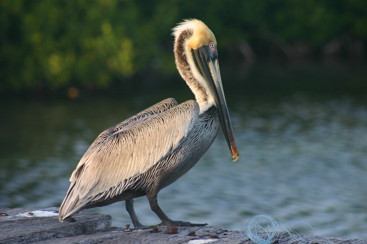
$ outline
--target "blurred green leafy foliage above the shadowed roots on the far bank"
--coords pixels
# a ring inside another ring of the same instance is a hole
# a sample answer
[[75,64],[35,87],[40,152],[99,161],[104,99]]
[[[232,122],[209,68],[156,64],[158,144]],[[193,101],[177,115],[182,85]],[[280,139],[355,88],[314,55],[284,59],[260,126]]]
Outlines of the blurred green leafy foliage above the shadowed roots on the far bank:
[[[258,43],[269,39],[301,43],[319,58],[346,35],[366,52],[366,0],[1,0],[0,92],[106,89],[150,70],[171,75],[170,29],[185,18],[204,21],[221,50],[248,43],[266,56],[271,48]],[[228,53],[221,63],[235,59]]]

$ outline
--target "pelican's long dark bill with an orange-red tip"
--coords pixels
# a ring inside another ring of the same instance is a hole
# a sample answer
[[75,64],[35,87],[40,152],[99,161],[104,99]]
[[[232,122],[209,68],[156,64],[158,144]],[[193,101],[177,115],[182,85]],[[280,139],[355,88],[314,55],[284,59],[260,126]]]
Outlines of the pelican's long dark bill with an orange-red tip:
[[222,88],[222,79],[219,71],[217,54],[211,53],[207,46],[203,46],[198,49],[192,49],[192,52],[193,56],[195,56],[195,64],[199,68],[201,74],[204,76],[204,79],[210,85],[210,88],[213,92],[215,103],[219,112],[219,120],[222,125],[222,130],[227,140],[228,147],[232,152],[232,160],[235,162],[238,159],[238,151]]

